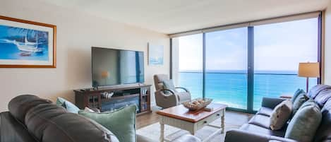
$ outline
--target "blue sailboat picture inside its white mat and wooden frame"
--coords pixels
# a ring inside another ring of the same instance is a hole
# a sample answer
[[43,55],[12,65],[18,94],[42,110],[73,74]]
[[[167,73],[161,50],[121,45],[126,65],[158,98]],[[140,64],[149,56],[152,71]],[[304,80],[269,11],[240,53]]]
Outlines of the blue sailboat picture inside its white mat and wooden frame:
[[0,25],[0,60],[49,61],[49,32]]

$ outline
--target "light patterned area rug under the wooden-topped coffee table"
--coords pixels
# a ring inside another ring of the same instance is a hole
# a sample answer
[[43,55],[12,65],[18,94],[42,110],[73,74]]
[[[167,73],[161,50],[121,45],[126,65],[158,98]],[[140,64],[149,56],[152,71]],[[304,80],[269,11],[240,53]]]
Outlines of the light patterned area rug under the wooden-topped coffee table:
[[[217,119],[215,122],[211,123],[215,126],[220,126],[221,120]],[[225,121],[225,131],[228,131],[229,129],[238,129],[240,125],[237,124],[231,124],[227,123]],[[214,133],[217,129],[211,126],[205,126],[203,129],[200,129],[196,132],[195,136],[197,136],[200,139],[205,139],[207,136],[210,136],[210,134]],[[148,138],[151,138],[153,141],[159,141],[160,138],[160,123],[157,122],[155,124],[150,124],[148,126],[145,126],[141,129],[137,130],[137,134],[147,136]],[[175,133],[175,134],[173,134]],[[171,134],[171,135],[170,135]],[[180,136],[183,136],[185,134],[190,134],[188,131],[184,131],[181,129],[178,129],[173,126],[164,126],[164,136],[167,136],[166,138],[170,141],[174,141],[176,138],[179,138]],[[217,134],[214,138],[210,139],[210,142],[222,142],[224,141],[224,134]]]

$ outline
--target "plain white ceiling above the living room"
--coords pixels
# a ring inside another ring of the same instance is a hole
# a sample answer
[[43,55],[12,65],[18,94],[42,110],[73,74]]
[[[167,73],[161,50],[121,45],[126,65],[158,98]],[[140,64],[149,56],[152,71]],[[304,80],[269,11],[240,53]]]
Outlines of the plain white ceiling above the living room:
[[120,23],[171,34],[318,11],[330,0],[44,0]]

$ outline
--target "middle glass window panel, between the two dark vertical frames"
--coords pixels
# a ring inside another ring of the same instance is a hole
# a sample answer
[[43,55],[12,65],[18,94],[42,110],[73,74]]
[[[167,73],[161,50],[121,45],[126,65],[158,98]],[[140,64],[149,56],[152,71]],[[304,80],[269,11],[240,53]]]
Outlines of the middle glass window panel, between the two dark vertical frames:
[[247,28],[205,33],[205,97],[246,110]]

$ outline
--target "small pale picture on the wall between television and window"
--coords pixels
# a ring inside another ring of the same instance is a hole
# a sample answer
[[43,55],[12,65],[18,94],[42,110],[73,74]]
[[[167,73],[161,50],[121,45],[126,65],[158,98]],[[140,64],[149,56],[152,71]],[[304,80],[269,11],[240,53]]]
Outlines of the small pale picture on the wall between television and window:
[[152,45],[148,43],[148,64],[163,65],[163,45]]

